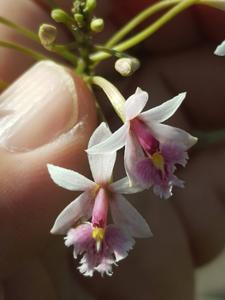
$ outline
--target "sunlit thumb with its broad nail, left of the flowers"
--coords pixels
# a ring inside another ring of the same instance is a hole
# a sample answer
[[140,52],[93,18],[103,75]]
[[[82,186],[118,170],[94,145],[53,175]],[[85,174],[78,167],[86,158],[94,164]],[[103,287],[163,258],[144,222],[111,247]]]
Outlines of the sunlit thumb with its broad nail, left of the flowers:
[[34,65],[0,98],[0,110],[10,112],[0,119],[4,274],[44,246],[55,217],[75,197],[52,183],[46,164],[86,170],[83,150],[96,115],[84,82],[49,61]]

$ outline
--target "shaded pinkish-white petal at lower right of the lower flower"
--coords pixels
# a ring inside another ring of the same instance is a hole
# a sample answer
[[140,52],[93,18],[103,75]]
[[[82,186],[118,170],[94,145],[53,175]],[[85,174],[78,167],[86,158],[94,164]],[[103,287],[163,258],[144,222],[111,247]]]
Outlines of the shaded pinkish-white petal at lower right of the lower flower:
[[110,207],[114,223],[131,236],[152,236],[152,232],[145,219],[122,195],[116,194],[110,201]]

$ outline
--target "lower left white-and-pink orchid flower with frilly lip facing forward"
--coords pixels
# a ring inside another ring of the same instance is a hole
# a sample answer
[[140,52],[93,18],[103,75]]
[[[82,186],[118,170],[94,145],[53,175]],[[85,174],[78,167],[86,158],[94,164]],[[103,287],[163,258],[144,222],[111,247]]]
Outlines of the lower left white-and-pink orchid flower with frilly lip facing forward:
[[[111,132],[101,123],[88,147],[109,138]],[[141,190],[130,187],[127,177],[111,182],[116,152],[88,155],[94,181],[68,169],[48,164],[52,180],[59,186],[83,193],[57,217],[51,233],[67,234],[66,246],[73,245],[74,257],[84,254],[79,270],[85,276],[94,271],[112,274],[112,265],[125,258],[134,245],[133,237],[149,237],[151,231],[138,211],[121,194]],[[115,225],[107,224],[111,209]],[[87,222],[91,218],[91,222]]]

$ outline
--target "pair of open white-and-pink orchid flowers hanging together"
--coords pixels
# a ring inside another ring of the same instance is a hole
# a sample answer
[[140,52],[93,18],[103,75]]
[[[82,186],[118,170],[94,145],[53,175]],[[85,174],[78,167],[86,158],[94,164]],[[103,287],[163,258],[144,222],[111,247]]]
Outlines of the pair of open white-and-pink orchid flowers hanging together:
[[[187,132],[161,124],[171,117],[185,98],[181,93],[142,112],[148,94],[138,88],[123,107],[124,125],[113,134],[101,123],[90,138],[87,153],[94,182],[72,170],[48,165],[59,186],[83,193],[58,216],[51,230],[66,234],[66,246],[74,247],[74,258],[83,254],[79,270],[112,274],[112,265],[125,258],[134,238],[150,237],[151,230],[138,211],[122,196],[153,187],[162,198],[173,186],[183,186],[174,172],[185,166],[187,150],[197,139]],[[112,182],[117,150],[125,146],[127,177]],[[108,210],[114,224],[108,224]],[[89,221],[91,220],[91,221]]]

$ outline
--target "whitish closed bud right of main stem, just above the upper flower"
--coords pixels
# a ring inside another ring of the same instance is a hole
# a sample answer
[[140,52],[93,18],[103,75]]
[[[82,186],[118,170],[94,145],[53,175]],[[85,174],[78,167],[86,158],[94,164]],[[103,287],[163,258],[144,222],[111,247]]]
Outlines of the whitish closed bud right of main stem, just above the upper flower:
[[123,57],[119,58],[115,63],[115,69],[122,76],[132,75],[140,67],[140,62],[137,58]]

